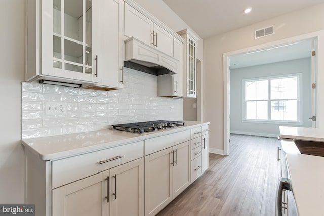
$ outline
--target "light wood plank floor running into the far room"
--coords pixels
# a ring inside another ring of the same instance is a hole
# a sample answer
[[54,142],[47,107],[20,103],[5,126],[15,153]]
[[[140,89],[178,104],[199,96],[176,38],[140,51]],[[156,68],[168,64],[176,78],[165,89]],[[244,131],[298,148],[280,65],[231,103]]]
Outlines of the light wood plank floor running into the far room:
[[276,138],[231,135],[229,156],[209,154],[209,169],[158,215],[275,215],[280,177]]

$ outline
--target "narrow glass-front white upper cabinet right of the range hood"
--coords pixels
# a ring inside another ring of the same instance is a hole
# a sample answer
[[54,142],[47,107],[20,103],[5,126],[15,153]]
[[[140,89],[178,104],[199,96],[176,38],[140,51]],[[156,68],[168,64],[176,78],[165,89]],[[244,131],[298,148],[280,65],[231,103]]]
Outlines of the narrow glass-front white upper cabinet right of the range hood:
[[189,29],[178,32],[185,39],[183,46],[183,96],[196,98],[197,96],[197,41],[196,36]]

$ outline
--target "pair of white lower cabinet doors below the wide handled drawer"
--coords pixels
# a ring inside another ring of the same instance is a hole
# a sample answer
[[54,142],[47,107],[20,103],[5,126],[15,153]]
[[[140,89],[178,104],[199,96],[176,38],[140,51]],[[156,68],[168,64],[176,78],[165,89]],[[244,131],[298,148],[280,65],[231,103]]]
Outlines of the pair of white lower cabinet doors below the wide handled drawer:
[[53,216],[144,215],[144,159],[52,191]]

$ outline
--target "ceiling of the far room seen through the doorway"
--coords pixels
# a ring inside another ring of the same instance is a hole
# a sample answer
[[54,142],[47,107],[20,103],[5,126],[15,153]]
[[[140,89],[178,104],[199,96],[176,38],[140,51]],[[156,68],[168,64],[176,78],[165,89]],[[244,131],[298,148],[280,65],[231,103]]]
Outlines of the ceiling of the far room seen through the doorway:
[[312,40],[230,56],[230,69],[311,57]]

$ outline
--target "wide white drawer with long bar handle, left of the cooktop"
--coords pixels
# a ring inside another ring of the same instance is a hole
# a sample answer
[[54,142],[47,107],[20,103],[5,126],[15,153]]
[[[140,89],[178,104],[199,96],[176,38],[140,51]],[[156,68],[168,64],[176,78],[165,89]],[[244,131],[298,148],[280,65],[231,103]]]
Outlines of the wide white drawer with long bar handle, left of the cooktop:
[[143,157],[144,142],[139,141],[52,162],[52,188],[74,182],[98,172]]

